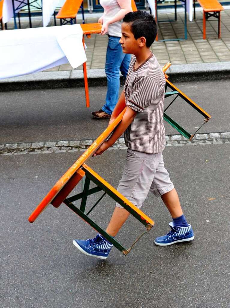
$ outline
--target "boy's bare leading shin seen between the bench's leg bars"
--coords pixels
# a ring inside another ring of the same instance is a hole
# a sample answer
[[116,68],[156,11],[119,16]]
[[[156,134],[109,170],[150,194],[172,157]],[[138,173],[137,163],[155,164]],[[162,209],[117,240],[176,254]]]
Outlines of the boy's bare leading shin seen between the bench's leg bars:
[[121,229],[127,218],[129,217],[129,212],[126,209],[115,207],[113,215],[111,217],[110,223],[107,226],[106,232],[115,237],[118,231]]

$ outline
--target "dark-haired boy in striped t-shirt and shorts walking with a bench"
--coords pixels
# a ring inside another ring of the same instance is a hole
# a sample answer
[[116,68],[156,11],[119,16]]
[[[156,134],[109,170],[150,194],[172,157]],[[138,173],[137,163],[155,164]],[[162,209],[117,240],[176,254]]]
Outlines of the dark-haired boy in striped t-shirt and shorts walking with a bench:
[[[162,198],[173,221],[169,224],[170,232],[157,237],[154,243],[167,246],[192,241],[194,234],[183,215],[177,192],[163,162],[165,76],[150,51],[156,35],[155,20],[146,11],[138,10],[125,15],[119,43],[124,53],[133,56],[124,90],[111,115],[110,123],[125,106],[127,109],[111,137],[100,146],[94,156],[111,147],[124,132],[128,149],[117,190],[138,208],[142,206],[149,191]],[[115,237],[128,216],[129,212],[116,204],[106,232]],[[93,239],[74,240],[73,244],[82,253],[101,259],[106,259],[112,248],[112,244],[99,233]]]

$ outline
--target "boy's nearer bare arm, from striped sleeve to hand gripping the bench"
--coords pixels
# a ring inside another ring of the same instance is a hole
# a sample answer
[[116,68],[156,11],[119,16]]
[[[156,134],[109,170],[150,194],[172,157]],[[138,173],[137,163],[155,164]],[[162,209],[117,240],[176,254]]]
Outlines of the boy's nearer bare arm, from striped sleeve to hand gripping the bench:
[[136,111],[127,106],[127,109],[125,111],[125,114],[123,115],[121,122],[115,128],[111,137],[107,141],[103,142],[103,144],[98,148],[98,150],[94,153],[93,156],[101,155],[105,150],[110,148],[115,143],[115,141],[118,140],[118,138],[123,134],[123,132],[129,127],[136,114]]

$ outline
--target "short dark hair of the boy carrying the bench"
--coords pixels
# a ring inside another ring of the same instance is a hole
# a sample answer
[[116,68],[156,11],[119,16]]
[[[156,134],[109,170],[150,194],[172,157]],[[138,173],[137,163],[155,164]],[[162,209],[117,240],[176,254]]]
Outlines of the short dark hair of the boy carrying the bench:
[[144,36],[146,47],[150,47],[157,36],[155,19],[147,11],[129,12],[123,18],[123,22],[131,23],[130,29],[135,39]]

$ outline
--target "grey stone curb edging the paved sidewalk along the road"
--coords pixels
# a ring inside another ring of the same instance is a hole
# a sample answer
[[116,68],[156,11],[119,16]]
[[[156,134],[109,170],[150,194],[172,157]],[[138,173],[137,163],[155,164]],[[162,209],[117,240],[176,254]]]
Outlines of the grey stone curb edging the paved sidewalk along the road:
[[[90,69],[87,73],[90,87],[106,85],[104,69]],[[230,79],[230,62],[173,65],[167,74],[172,82]],[[123,84],[124,79],[120,78]],[[0,80],[0,92],[69,87],[84,87],[83,70],[40,72]]]

